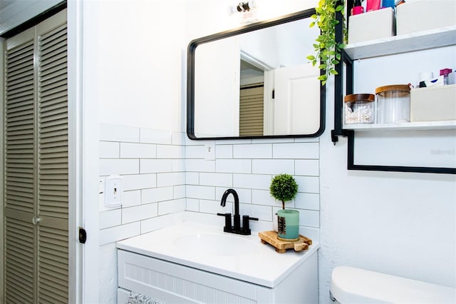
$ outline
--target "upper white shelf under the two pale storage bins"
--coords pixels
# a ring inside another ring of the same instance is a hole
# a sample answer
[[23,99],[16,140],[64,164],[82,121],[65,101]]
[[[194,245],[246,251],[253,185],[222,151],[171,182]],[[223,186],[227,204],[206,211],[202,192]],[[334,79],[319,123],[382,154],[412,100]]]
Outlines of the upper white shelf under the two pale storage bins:
[[351,59],[400,54],[456,45],[456,26],[348,44],[344,50]]

